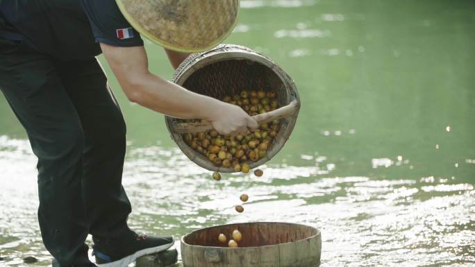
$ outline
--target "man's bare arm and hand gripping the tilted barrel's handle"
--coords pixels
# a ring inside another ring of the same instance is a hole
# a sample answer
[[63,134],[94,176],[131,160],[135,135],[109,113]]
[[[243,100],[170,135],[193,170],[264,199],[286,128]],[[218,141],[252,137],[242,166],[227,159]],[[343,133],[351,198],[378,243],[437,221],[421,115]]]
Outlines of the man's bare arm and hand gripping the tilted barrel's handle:
[[206,119],[228,135],[257,128],[240,107],[191,92],[151,74],[143,46],[119,47],[101,43],[101,49],[127,98],[151,110],[182,119]]

